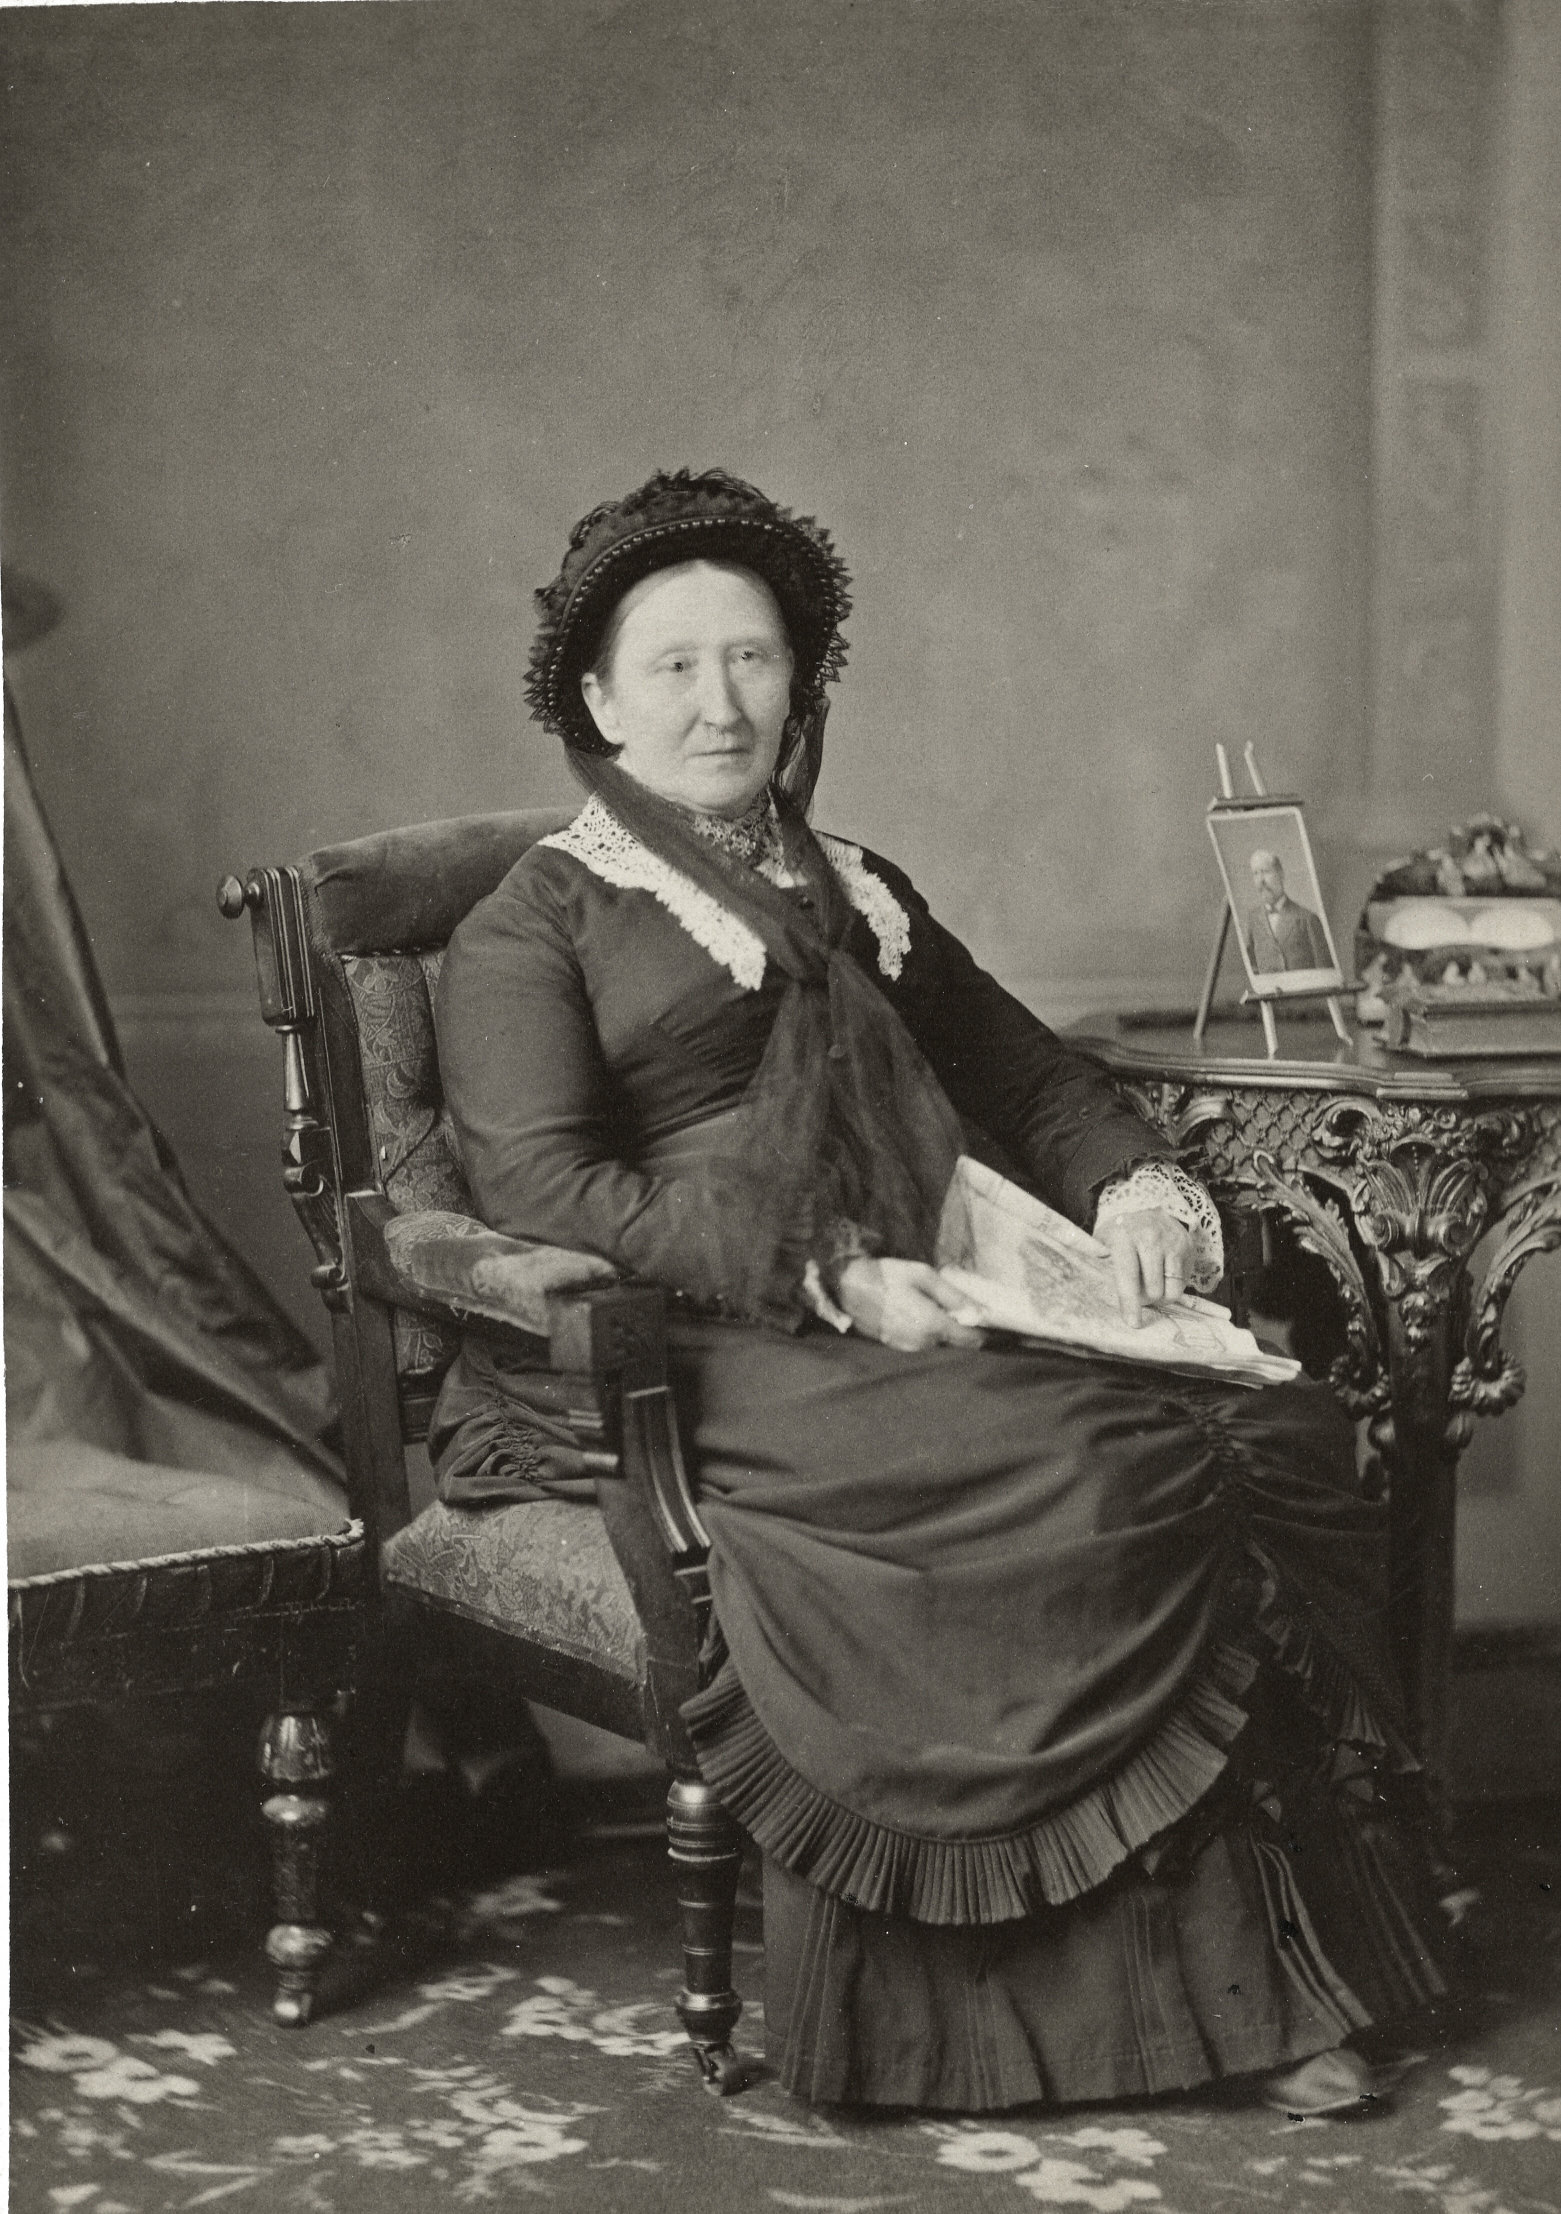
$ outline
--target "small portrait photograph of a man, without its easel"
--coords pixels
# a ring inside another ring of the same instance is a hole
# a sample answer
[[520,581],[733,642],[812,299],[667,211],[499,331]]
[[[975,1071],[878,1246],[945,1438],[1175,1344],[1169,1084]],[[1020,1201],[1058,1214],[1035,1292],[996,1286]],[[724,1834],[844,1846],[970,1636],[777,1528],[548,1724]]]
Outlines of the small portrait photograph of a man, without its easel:
[[1340,987],[1344,970],[1300,801],[1220,801],[1207,819],[1253,996]]

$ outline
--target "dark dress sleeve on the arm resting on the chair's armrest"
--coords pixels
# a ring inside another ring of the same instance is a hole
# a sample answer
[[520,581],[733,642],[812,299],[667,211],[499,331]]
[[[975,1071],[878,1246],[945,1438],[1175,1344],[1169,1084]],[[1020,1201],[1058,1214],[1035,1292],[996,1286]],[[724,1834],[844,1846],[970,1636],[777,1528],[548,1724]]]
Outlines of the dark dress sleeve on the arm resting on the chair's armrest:
[[720,1191],[622,1160],[613,1089],[567,917],[514,879],[449,941],[434,1005],[445,1098],[496,1231],[600,1253],[715,1304]]

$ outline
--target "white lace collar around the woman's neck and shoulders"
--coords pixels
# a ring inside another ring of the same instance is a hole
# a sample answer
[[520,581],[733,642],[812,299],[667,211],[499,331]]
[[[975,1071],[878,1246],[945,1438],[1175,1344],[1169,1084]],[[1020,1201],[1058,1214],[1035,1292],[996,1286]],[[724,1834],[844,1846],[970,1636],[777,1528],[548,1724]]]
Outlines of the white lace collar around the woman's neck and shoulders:
[[[651,892],[682,923],[693,943],[711,961],[717,961],[744,992],[757,992],[764,983],[764,939],[757,930],[744,923],[740,914],[733,914],[731,908],[724,908],[693,877],[684,877],[671,861],[662,861],[660,855],[640,844],[633,830],[627,830],[596,793],[591,793],[567,830],[556,830],[551,837],[538,839],[538,844],[567,852],[582,868],[589,868],[593,877],[600,877],[602,883],[613,883],[627,892]],[[899,976],[910,952],[910,917],[883,879],[875,877],[866,866],[861,846],[850,846],[846,839],[824,832],[819,835],[819,846],[839,877],[846,899],[877,939],[881,972],[890,979]],[[784,875],[784,863],[775,872],[775,859],[768,850],[759,852],[755,866],[771,881],[790,881]]]

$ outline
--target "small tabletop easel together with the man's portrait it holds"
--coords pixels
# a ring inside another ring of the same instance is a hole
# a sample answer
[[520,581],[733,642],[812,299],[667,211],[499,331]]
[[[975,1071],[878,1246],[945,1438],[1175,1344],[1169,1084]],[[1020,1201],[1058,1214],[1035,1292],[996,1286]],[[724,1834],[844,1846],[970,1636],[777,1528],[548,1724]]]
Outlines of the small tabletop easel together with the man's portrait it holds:
[[1273,1021],[1273,1001],[1278,999],[1324,999],[1335,1032],[1348,1045],[1351,1032],[1340,999],[1351,985],[1344,983],[1322,906],[1302,804],[1293,795],[1267,790],[1251,744],[1242,753],[1251,777],[1251,793],[1244,797],[1236,793],[1231,782],[1224,746],[1216,746],[1213,755],[1220,768],[1220,793],[1209,801],[1207,819],[1224,883],[1224,908],[1193,1021],[1193,1038],[1202,1043],[1209,1027],[1224,948],[1231,923],[1236,923],[1236,943],[1247,972],[1242,1003],[1255,1001],[1258,1005],[1269,1058],[1273,1061],[1280,1052],[1280,1032]]

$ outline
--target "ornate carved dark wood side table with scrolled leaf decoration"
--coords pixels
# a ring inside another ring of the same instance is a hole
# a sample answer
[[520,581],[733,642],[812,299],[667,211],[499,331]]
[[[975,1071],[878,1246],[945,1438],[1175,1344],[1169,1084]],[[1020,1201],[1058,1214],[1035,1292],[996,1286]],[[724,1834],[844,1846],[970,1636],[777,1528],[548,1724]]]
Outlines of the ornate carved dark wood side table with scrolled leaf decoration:
[[[1346,1308],[1329,1382],[1388,1479],[1388,1607],[1417,1747],[1446,1749],[1457,1461],[1475,1415],[1523,1393],[1501,1346],[1519,1271],[1561,1246],[1561,1058],[1430,1063],[1291,1023],[1282,1061],[1242,1023],[1078,1025],[1218,1204],[1282,1213]],[[1479,1284],[1470,1260],[1495,1244]]]

